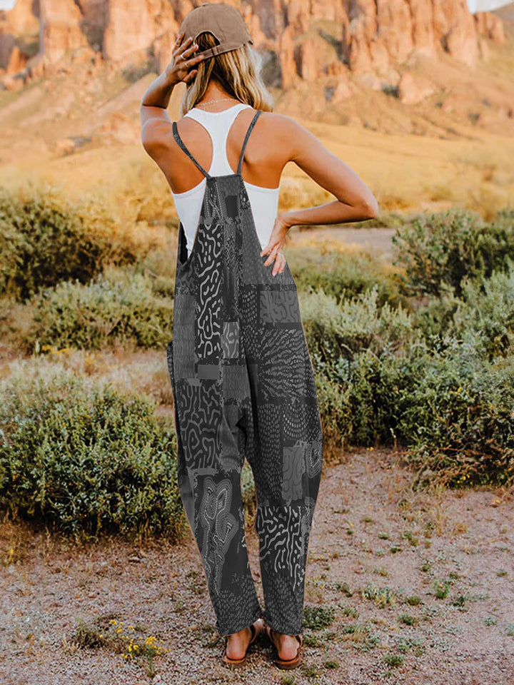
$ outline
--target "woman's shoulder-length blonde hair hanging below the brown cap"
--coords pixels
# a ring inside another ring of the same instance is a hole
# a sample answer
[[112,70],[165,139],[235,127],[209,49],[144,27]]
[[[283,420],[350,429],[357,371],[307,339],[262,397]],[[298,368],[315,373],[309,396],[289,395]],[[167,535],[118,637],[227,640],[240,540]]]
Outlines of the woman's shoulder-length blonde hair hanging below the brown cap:
[[[198,50],[202,52],[219,41],[208,31],[198,35]],[[223,52],[200,61],[195,67],[198,73],[191,83],[186,84],[186,93],[181,102],[181,116],[192,109],[203,98],[209,81],[213,78],[227,93],[254,109],[273,111],[273,96],[262,79],[263,60],[251,44],[246,43],[236,50]]]

